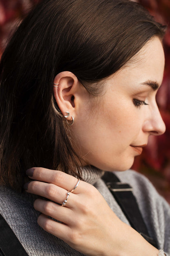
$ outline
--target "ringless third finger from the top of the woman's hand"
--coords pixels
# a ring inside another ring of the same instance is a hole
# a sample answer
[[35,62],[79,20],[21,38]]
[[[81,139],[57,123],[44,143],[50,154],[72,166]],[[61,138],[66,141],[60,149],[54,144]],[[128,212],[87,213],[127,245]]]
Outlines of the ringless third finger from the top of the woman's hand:
[[72,210],[61,207],[61,205],[51,201],[36,199],[34,201],[34,209],[65,224],[73,224],[74,222]]

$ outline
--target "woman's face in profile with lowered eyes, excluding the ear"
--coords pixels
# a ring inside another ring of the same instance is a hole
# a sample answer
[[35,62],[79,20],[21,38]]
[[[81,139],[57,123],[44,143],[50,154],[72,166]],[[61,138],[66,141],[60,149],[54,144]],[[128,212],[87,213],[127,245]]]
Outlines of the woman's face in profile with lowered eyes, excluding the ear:
[[72,129],[79,145],[76,150],[87,163],[124,171],[141,154],[150,135],[165,132],[155,100],[163,69],[163,47],[155,37],[129,65],[103,81],[101,97],[82,99]]

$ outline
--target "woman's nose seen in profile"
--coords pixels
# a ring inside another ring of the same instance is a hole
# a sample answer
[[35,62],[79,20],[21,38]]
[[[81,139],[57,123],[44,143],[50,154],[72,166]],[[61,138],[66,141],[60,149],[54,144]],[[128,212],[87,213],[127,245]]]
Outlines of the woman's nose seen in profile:
[[150,113],[150,116],[145,120],[143,131],[147,131],[150,135],[161,135],[166,131],[166,125],[163,122],[158,107]]

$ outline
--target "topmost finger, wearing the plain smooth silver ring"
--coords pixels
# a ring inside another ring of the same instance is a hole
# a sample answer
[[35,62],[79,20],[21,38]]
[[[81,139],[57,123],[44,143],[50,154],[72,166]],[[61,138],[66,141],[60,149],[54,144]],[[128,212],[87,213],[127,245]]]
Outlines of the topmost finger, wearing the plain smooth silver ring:
[[[26,174],[31,179],[52,183],[54,185],[57,185],[58,187],[66,189],[67,191],[72,191],[72,189],[76,186],[78,182],[77,178],[68,175],[67,173],[40,167],[30,168],[26,171]],[[74,194],[78,194],[83,191],[85,187],[84,183],[86,182],[80,182],[78,187],[76,187]]]

